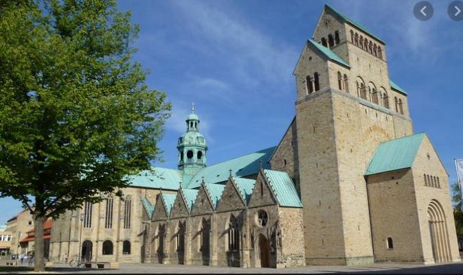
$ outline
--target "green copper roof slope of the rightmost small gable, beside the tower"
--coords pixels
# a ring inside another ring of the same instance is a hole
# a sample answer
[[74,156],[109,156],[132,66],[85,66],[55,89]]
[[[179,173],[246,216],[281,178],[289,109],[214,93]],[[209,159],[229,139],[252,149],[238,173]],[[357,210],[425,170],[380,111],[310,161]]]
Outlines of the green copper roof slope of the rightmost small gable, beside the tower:
[[264,170],[264,175],[267,177],[280,206],[302,207],[299,195],[297,195],[294,183],[289,178],[288,173]]

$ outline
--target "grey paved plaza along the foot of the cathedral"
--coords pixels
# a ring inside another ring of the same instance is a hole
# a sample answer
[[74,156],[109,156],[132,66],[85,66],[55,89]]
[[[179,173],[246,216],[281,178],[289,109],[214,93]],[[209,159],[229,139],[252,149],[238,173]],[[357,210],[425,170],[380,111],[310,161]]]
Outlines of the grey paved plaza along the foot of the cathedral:
[[[0,266],[0,273],[5,272],[5,266]],[[21,270],[12,270],[14,272],[22,272]],[[23,270],[25,273],[32,273]],[[271,268],[237,268],[237,267],[201,267],[192,265],[161,265],[152,263],[124,263],[120,265],[118,270],[96,270],[96,269],[76,269],[69,265],[58,264],[54,267],[47,268],[50,273],[155,273],[155,274],[194,274],[194,273],[234,273],[234,274],[322,274],[322,273],[368,273],[368,274],[461,274],[463,273],[463,263],[449,263],[441,265],[414,265],[414,264],[374,264],[374,265],[356,265],[351,267],[346,266],[321,266],[310,265],[306,267],[296,267],[288,269],[275,270]]]

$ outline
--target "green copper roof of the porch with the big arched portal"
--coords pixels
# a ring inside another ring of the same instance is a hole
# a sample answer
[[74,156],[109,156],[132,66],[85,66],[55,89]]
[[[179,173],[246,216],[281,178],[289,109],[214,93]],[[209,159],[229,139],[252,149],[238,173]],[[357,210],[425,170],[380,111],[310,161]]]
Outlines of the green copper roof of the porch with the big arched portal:
[[424,137],[425,133],[420,133],[381,143],[365,171],[365,176],[410,168]]

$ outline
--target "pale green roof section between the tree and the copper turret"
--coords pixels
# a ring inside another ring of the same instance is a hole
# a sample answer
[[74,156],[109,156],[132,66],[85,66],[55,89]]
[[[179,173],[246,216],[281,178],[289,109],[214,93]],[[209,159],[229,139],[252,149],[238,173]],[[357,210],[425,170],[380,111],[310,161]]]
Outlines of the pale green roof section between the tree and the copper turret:
[[145,187],[166,190],[178,190],[182,180],[181,171],[155,167],[155,173],[142,171],[138,175],[128,176],[132,187]]

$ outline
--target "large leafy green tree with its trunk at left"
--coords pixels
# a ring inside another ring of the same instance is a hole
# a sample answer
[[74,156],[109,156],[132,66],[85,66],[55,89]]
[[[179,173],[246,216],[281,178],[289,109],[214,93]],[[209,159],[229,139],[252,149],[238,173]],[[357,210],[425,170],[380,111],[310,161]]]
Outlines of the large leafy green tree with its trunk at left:
[[47,218],[159,160],[171,106],[132,60],[138,30],[115,0],[0,0],[0,196],[33,213],[36,271]]

